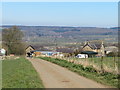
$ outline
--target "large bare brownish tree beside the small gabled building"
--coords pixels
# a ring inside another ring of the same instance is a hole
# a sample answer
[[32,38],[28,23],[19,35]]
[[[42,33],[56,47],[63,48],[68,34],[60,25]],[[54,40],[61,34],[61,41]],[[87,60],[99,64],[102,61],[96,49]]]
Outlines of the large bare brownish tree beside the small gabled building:
[[22,42],[23,33],[17,26],[2,30],[2,47],[7,50],[7,54],[24,54]]

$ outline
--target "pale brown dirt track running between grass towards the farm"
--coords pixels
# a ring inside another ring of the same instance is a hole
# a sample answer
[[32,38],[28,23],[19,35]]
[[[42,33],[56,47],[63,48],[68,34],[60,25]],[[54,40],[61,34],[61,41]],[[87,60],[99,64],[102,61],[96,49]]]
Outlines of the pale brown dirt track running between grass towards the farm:
[[45,88],[106,88],[90,79],[41,59],[29,59]]

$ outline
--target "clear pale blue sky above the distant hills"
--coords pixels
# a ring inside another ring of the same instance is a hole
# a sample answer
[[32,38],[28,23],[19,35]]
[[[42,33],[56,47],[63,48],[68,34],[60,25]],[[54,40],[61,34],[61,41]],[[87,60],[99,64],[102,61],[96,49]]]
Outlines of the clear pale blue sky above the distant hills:
[[116,27],[117,2],[3,2],[3,25]]

